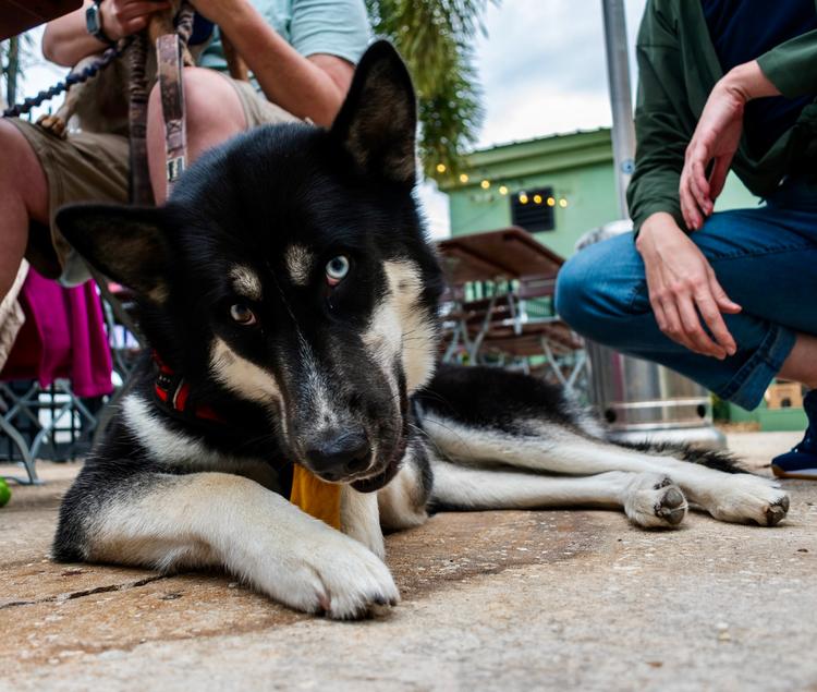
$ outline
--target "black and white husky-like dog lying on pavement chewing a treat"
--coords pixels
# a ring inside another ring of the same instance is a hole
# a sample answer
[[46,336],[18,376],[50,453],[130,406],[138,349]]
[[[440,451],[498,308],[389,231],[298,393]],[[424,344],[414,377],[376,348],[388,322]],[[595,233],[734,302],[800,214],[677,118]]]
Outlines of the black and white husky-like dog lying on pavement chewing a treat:
[[[687,499],[723,521],[785,515],[783,491],[724,457],[607,444],[537,379],[435,374],[441,274],[413,198],[415,129],[408,74],[379,43],[329,130],[240,136],[163,208],[60,211],[137,293],[154,356],[65,496],[58,560],[222,566],[353,618],[399,598],[381,526],[431,503],[621,507],[648,527],[678,525]],[[342,532],[276,491],[292,462],[341,484]]]

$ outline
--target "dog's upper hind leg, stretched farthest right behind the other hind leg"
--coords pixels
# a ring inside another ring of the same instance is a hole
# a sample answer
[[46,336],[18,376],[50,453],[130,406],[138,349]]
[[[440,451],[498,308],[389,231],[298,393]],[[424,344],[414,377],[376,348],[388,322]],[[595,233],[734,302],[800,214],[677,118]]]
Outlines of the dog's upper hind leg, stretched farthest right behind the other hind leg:
[[[501,409],[501,402],[497,403]],[[747,473],[723,473],[670,456],[647,453],[595,439],[556,423],[522,421],[512,433],[473,427],[438,414],[426,414],[424,427],[452,461],[507,464],[536,472],[589,475],[608,471],[669,475],[690,501],[721,521],[777,524],[789,498],[777,483]]]

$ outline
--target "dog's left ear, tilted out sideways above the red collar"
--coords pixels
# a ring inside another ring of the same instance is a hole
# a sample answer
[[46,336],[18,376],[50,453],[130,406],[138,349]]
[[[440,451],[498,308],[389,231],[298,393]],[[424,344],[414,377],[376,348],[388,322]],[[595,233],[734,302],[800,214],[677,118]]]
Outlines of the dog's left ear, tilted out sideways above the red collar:
[[168,294],[170,265],[162,210],[77,204],[57,213],[57,227],[69,243],[103,275],[154,303]]

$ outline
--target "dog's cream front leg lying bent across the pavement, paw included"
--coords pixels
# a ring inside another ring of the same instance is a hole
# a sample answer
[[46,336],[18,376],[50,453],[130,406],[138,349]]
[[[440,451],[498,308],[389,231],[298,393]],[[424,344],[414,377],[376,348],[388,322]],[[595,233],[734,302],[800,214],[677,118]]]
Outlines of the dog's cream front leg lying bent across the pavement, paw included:
[[57,559],[222,566],[276,600],[339,619],[399,599],[371,551],[248,478],[142,474],[101,491],[100,482],[81,476],[63,502]]

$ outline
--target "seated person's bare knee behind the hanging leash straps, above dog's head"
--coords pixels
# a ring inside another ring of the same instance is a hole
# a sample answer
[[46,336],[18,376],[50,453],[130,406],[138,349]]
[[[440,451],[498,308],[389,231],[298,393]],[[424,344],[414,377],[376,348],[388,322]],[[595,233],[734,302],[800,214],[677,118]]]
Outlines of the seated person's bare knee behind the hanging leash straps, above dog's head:
[[[203,151],[247,128],[239,95],[220,74],[203,68],[184,70],[184,108],[187,128],[187,163]],[[150,92],[147,109],[147,158],[156,204],[167,198],[164,173],[164,118],[159,86]]]

